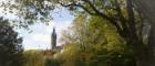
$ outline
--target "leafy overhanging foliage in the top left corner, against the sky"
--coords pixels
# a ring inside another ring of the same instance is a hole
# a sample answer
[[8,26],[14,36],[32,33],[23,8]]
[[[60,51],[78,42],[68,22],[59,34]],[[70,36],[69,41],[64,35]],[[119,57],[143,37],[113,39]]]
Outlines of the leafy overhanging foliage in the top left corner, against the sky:
[[23,28],[28,28],[37,22],[46,23],[52,20],[51,10],[54,9],[50,1],[44,0],[7,0],[1,1],[0,7],[6,15],[11,13],[16,19],[13,23],[19,23]]

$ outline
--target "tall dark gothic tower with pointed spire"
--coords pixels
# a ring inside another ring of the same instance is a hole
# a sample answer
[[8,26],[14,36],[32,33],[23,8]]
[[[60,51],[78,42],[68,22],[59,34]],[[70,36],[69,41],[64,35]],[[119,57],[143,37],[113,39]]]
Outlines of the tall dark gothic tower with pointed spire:
[[51,34],[51,50],[55,50],[56,48],[56,32],[55,32],[55,28],[53,28],[53,32]]

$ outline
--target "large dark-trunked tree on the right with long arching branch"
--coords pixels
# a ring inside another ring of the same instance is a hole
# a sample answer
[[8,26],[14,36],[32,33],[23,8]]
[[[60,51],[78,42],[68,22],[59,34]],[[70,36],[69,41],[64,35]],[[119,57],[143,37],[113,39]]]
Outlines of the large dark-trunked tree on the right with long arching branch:
[[[107,20],[133,51],[137,66],[154,66],[154,52],[149,42],[146,44],[143,42],[142,15],[133,2],[132,0],[58,0],[55,3],[72,11],[82,13],[84,11]],[[149,37],[148,41],[153,40]]]

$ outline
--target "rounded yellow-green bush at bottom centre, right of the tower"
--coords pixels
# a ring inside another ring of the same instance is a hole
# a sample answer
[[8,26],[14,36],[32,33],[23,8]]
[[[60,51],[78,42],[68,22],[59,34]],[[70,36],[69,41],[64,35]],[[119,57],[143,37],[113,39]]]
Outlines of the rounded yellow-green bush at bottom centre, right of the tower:
[[80,45],[71,44],[65,46],[63,52],[58,54],[56,58],[62,62],[60,66],[84,66],[82,57]]

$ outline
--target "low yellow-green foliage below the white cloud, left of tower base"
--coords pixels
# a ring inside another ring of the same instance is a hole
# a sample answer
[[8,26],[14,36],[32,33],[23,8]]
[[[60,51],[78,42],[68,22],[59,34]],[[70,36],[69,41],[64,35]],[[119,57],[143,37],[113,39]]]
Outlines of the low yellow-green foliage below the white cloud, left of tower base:
[[[55,52],[54,52],[55,54]],[[54,57],[50,51],[30,50],[23,53],[23,66],[60,66],[61,59]]]

